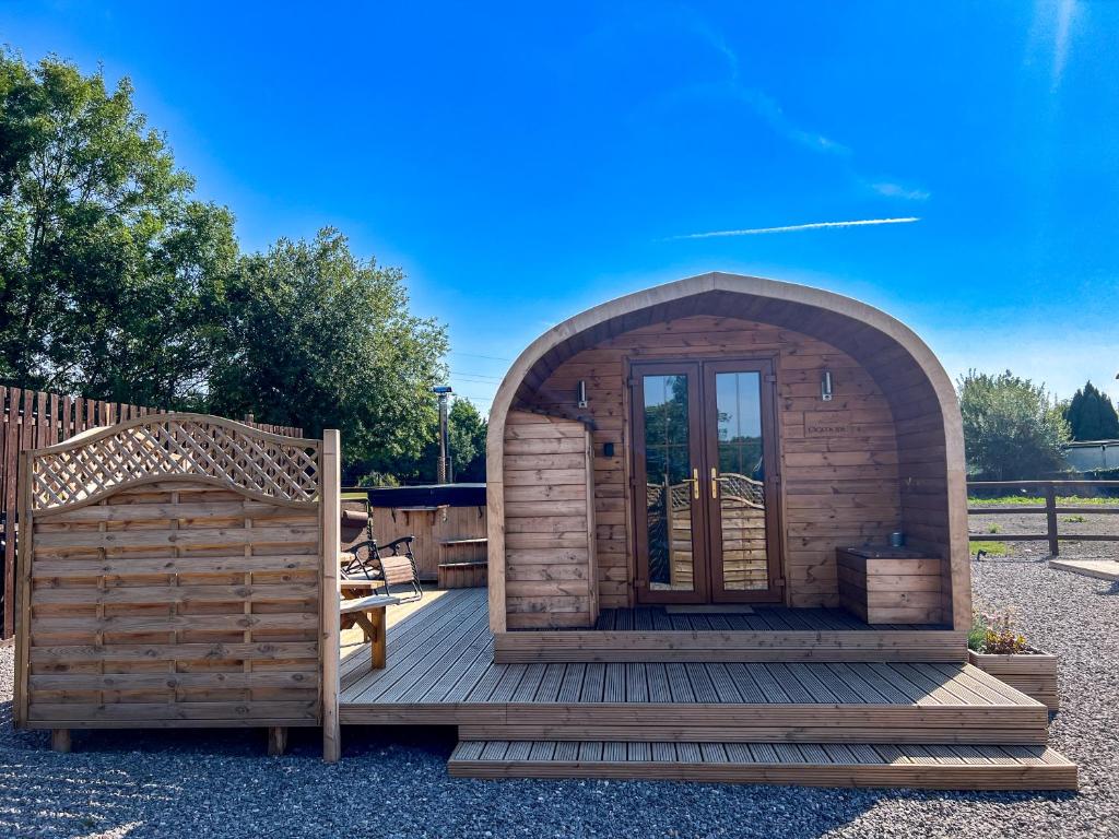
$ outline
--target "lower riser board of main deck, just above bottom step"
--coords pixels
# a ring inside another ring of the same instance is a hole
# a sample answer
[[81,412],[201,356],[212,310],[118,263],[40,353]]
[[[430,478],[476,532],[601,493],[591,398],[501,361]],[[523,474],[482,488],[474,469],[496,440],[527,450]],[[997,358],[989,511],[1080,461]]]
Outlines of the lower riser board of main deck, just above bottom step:
[[1044,728],[960,728],[894,726],[815,727],[815,726],[619,726],[619,725],[492,725],[459,726],[461,741],[622,741],[627,743],[655,743],[688,741],[695,743],[933,743],[1018,746],[1043,746],[1049,742]]

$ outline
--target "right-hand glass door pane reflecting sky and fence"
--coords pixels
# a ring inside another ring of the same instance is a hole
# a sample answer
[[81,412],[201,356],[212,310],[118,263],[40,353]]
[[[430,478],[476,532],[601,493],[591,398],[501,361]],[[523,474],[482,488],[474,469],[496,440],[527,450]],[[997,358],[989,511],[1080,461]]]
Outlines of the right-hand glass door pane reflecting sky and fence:
[[723,588],[769,587],[761,374],[715,374]]

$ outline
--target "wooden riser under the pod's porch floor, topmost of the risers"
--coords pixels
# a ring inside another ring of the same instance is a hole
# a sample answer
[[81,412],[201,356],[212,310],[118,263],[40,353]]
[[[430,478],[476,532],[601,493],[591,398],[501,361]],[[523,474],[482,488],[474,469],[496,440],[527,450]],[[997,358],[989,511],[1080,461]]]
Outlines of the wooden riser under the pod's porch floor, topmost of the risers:
[[961,632],[504,632],[500,664],[534,662],[904,661],[960,663]]

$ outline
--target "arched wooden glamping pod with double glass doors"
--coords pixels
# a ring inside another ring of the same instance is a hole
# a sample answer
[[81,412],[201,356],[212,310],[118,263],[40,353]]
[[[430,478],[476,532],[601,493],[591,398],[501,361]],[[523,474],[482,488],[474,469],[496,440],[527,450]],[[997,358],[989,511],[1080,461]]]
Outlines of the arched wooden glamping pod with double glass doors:
[[705,274],[591,309],[514,364],[488,460],[499,650],[619,610],[764,604],[939,628],[962,656],[955,390],[864,303]]

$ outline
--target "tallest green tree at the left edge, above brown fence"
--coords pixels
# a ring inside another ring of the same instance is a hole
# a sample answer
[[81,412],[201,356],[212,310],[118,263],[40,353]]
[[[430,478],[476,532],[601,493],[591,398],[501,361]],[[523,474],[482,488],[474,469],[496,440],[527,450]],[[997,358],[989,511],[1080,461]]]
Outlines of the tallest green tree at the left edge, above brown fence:
[[0,378],[197,404],[237,247],[192,190],[126,78],[0,53]]

